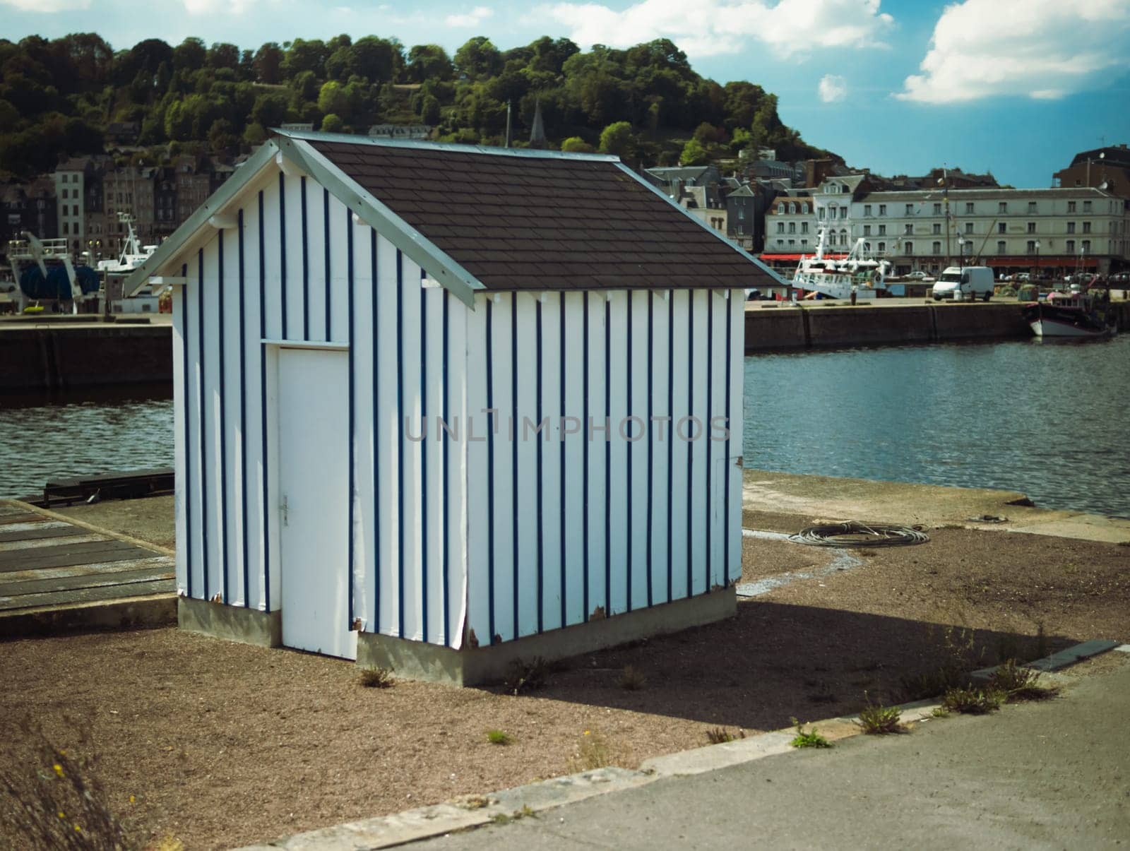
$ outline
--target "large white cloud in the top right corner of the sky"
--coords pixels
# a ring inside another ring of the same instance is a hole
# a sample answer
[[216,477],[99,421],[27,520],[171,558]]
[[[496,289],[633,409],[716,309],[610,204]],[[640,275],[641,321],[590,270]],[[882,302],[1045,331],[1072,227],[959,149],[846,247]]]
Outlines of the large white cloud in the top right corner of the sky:
[[1130,0],[964,0],[938,18],[919,68],[895,97],[1061,98],[1130,68]]

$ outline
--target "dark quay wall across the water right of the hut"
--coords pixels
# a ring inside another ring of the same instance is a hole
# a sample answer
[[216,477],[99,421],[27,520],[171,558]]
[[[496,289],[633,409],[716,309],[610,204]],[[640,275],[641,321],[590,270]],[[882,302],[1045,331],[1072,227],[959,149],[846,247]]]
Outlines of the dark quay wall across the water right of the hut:
[[[750,306],[746,354],[772,349],[875,346],[898,342],[1020,339],[1032,329],[1020,302]],[[1130,331],[1130,302],[1115,303],[1119,327]]]

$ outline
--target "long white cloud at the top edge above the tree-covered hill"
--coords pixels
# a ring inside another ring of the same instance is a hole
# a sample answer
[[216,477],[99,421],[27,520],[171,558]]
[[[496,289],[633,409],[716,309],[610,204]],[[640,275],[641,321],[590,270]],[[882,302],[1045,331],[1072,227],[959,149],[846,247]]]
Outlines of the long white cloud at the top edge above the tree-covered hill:
[[786,58],[827,47],[887,46],[894,23],[881,0],[640,0],[623,11],[594,2],[558,2],[534,14],[570,27],[582,47],[627,47],[670,38],[687,54],[736,53],[748,40]]

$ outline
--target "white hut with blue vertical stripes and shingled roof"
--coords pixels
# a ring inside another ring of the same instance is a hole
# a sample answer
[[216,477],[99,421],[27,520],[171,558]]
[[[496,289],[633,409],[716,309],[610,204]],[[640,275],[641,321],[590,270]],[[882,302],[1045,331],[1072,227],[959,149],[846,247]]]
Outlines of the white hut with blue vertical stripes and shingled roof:
[[770,280],[615,157],[275,133],[128,281],[181,625],[473,683],[732,614]]

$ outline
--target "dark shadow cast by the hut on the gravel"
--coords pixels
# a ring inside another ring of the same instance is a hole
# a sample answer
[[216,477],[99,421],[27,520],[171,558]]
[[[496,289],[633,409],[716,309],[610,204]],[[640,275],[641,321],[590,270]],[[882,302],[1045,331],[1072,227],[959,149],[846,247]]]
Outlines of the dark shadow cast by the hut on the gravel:
[[[793,718],[851,714],[868,698],[889,705],[933,696],[931,686],[947,666],[973,670],[1034,659],[1079,640],[745,601],[728,620],[551,665],[546,685],[530,694],[773,730]],[[628,667],[642,675],[643,687],[625,687]]]

